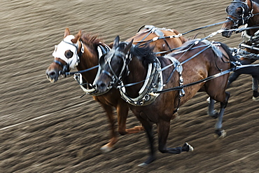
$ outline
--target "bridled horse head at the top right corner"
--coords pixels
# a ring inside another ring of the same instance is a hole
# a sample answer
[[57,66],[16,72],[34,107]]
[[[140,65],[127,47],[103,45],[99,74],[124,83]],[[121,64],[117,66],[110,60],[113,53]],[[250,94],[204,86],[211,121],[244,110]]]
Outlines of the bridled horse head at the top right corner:
[[[228,16],[221,29],[236,29],[241,25],[246,25],[250,18],[253,18],[253,2],[251,0],[233,0],[226,8]],[[222,32],[222,36],[229,38],[232,31]]]

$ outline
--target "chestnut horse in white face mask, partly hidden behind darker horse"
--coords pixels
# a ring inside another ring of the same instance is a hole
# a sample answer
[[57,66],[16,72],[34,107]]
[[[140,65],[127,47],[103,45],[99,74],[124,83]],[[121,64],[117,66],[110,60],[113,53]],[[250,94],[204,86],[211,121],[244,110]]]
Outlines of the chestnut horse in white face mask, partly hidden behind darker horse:
[[[152,39],[157,38],[158,35],[163,37],[177,34],[179,34],[179,32],[172,29],[158,29],[153,26],[148,26],[141,29],[141,31],[132,38],[141,44],[145,44],[146,41],[149,41],[156,51],[165,51],[181,46],[186,40],[182,36],[173,39],[158,39],[156,41],[152,41]],[[90,34],[81,35],[81,32],[73,36],[70,34],[69,29],[65,29],[64,40],[56,46],[52,54],[55,60],[46,70],[47,78],[50,82],[54,83],[59,79],[59,76],[66,74],[66,72],[71,69],[76,68],[78,71],[91,69],[77,73],[75,77],[78,83],[80,83],[80,87],[87,94],[92,95],[92,97],[102,105],[109,118],[111,139],[108,144],[102,146],[101,149],[103,151],[111,151],[114,144],[118,141],[115,120],[113,118],[113,107],[115,107],[117,111],[118,132],[120,134],[131,134],[141,130],[141,127],[126,130],[129,108],[127,103],[120,98],[120,92],[118,92],[116,88],[111,88],[109,92],[99,92],[94,86],[94,79],[99,75],[100,68],[97,69],[93,67],[98,66],[99,57],[102,57],[102,55],[107,52],[109,52],[108,46],[106,46],[101,39],[98,39],[97,36]]]

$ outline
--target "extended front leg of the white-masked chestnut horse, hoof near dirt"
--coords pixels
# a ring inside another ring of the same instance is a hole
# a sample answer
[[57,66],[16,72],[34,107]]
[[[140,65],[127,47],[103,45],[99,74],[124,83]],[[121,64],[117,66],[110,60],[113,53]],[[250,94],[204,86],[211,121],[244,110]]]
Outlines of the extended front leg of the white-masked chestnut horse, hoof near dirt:
[[109,152],[113,149],[113,146],[117,143],[118,137],[116,134],[115,120],[113,118],[113,108],[109,105],[106,105],[103,103],[101,103],[101,104],[102,104],[104,110],[106,111],[106,115],[108,116],[108,119],[109,119],[109,122],[111,125],[111,130],[110,130],[111,139],[108,144],[101,147],[101,150],[104,152]]

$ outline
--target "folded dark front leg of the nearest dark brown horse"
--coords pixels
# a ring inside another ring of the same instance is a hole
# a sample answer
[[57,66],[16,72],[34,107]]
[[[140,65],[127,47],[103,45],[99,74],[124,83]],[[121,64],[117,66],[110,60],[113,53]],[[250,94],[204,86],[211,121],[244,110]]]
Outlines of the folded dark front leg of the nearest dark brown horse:
[[193,146],[185,143],[176,148],[167,148],[167,137],[169,135],[170,121],[160,120],[158,123],[158,149],[161,153],[179,154],[183,151],[193,151]]

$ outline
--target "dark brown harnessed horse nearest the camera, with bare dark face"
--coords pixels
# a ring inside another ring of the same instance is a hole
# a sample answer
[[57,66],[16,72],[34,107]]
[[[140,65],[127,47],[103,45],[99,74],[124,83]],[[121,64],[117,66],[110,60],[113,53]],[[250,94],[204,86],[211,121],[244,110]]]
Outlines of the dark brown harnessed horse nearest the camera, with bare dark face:
[[[121,95],[144,126],[150,144],[150,156],[141,166],[155,160],[153,123],[158,126],[160,152],[193,151],[193,147],[187,143],[176,148],[167,148],[166,143],[173,114],[198,91],[206,91],[211,99],[221,102],[216,134],[225,135],[221,128],[223,113],[230,97],[230,94],[225,92],[229,74],[203,83],[196,82],[230,69],[229,59],[232,55],[227,46],[197,39],[187,41],[177,52],[155,57],[148,46],[139,48],[132,46],[132,42],[120,43],[118,36],[113,43],[113,49],[105,56],[106,63],[97,80],[97,88],[105,92],[113,84],[114,78],[122,79]],[[174,90],[188,83],[196,84],[179,88],[179,91]],[[170,88],[172,91],[159,95],[163,87],[164,91]],[[210,113],[213,113],[212,110]]]

